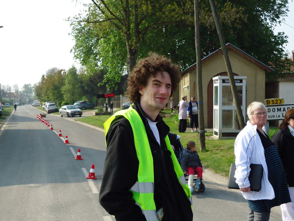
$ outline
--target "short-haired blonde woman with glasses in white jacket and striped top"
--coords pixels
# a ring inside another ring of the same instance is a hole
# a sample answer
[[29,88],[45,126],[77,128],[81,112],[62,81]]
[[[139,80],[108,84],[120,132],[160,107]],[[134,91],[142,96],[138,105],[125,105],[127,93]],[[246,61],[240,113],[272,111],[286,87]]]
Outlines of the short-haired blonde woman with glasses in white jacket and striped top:
[[[271,207],[290,202],[283,166],[278,149],[263,131],[267,109],[263,103],[248,105],[249,121],[235,140],[235,178],[240,191],[248,200],[248,221],[269,220]],[[250,164],[262,164],[261,190],[250,191]]]

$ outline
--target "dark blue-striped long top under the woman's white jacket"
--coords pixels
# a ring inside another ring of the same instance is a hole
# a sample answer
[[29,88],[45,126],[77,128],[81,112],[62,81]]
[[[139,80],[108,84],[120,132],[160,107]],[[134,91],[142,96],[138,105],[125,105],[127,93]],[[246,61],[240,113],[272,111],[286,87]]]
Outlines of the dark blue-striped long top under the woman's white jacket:
[[[274,199],[260,199],[248,200],[251,210],[255,212],[270,212],[270,209],[280,204],[291,202],[287,180],[285,177],[282,161],[278,154],[278,148],[267,137],[263,136],[259,130],[257,133],[260,137],[261,143],[264,148],[264,156],[266,165],[268,167],[268,181],[272,185],[275,198]],[[278,179],[276,179],[278,177]]]

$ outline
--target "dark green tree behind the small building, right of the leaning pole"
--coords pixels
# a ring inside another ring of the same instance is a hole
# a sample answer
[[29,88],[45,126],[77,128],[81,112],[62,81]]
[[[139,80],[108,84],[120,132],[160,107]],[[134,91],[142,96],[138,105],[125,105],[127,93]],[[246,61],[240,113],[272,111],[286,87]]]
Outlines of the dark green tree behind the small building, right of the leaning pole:
[[[225,2],[226,0],[216,2],[218,11],[221,10],[221,5]],[[274,67],[275,71],[267,73],[267,78],[279,76],[282,70],[287,69],[285,62],[288,60],[283,60],[286,57],[283,44],[288,41],[284,32],[275,35],[273,29],[280,24],[282,17],[287,15],[288,0],[258,2],[255,0],[234,0],[231,2],[236,8],[243,9],[246,20],[241,22],[239,27],[231,27],[226,23],[221,24],[226,42],[234,44],[266,65]],[[217,41],[212,45],[220,47],[220,43]]]

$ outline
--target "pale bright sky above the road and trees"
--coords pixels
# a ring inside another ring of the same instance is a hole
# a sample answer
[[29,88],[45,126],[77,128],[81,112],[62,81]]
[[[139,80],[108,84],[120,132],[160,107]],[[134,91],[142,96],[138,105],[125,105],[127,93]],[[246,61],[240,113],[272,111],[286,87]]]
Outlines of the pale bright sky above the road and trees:
[[[289,53],[294,50],[294,2],[289,0],[285,24],[275,33],[285,32]],[[91,3],[91,0],[83,0]],[[46,4],[47,3],[47,4]],[[65,19],[78,14],[83,6],[76,0],[0,0],[0,83],[34,85],[52,67],[68,70],[80,67],[70,52],[75,42]],[[289,27],[291,26],[291,27]],[[289,55],[290,56],[290,55]]]

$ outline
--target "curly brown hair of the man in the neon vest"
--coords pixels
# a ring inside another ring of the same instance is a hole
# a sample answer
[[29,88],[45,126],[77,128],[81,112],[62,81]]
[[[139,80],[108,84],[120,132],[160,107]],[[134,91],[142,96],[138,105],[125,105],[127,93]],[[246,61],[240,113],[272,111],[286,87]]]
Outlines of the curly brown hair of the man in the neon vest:
[[128,77],[128,89],[127,95],[132,102],[139,102],[141,94],[139,93],[139,87],[145,87],[148,83],[150,75],[156,77],[156,72],[168,72],[171,77],[171,95],[177,89],[180,81],[180,66],[175,65],[162,55],[156,53],[149,53],[149,56],[138,61],[138,64],[134,67],[130,76]]

